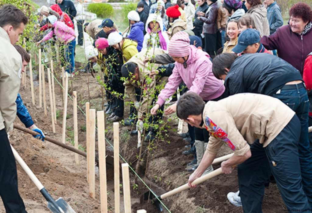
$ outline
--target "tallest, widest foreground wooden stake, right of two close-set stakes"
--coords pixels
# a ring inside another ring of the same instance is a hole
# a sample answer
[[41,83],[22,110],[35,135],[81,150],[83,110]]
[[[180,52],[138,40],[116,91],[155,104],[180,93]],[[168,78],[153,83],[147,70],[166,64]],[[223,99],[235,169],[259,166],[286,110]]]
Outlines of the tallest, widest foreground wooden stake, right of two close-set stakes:
[[[99,173],[100,173],[100,203],[101,213],[107,212],[107,182],[106,182],[106,154],[105,154],[105,123],[104,111],[97,111],[98,121],[98,151],[99,151]],[[115,210],[115,212],[117,212]]]

